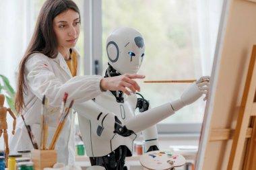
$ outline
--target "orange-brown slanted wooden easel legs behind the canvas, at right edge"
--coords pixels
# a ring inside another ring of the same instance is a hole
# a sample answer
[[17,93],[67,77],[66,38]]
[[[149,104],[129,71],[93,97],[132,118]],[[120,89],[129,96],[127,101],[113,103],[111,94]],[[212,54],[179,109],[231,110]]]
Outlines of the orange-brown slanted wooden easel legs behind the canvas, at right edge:
[[[244,149],[246,149],[245,164],[243,169],[256,169],[256,45],[253,46],[245,89],[241,102],[241,109],[238,114],[236,129],[234,130],[234,138],[228,161],[228,170],[239,168]],[[247,132],[251,130],[251,136],[247,142],[247,148],[244,148]]]

